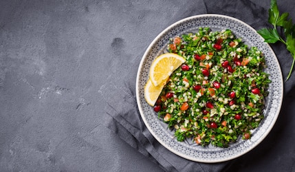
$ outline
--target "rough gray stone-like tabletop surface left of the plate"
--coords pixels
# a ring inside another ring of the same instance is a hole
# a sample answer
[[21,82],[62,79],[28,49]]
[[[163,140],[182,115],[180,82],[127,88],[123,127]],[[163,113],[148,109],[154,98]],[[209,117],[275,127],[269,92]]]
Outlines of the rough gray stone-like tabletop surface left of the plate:
[[135,80],[120,74],[196,7],[0,1],[0,171],[162,171],[105,127],[105,92]]

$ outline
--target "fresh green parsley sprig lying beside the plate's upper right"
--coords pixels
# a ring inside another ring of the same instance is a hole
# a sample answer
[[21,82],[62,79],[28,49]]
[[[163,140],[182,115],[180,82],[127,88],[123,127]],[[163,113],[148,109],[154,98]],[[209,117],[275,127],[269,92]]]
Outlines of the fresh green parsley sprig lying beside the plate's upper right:
[[[280,15],[276,0],[270,1],[270,9],[268,10],[268,22],[273,25],[273,28],[262,28],[257,32],[265,39],[266,43],[276,43],[281,41],[286,45],[287,50],[293,57],[293,62],[287,79],[292,74],[295,63],[295,24],[293,25],[292,19],[288,19],[289,13],[283,12]],[[278,34],[278,28],[283,29],[281,35]]]

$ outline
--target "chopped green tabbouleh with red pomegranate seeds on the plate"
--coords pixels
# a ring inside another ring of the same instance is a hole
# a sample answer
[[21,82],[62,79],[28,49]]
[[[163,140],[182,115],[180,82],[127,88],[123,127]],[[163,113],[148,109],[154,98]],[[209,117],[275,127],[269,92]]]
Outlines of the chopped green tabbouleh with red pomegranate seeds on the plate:
[[271,82],[263,52],[231,30],[210,28],[171,38],[168,51],[186,62],[168,78],[154,110],[177,140],[228,147],[240,137],[250,139],[264,117]]

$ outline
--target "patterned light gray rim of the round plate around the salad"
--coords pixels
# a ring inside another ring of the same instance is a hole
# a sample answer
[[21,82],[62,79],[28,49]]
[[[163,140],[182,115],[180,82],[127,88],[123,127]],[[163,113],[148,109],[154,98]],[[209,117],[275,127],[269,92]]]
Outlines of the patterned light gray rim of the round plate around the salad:
[[[157,117],[157,114],[153,111],[153,107],[149,106],[144,99],[144,85],[149,78],[149,67],[153,59],[167,52],[166,47],[170,38],[188,32],[197,32],[199,27],[210,27],[212,30],[230,29],[237,37],[241,37],[246,44],[258,47],[265,54],[267,64],[265,71],[270,74],[270,79],[272,80],[269,87],[270,94],[265,99],[266,107],[263,110],[265,118],[261,121],[259,127],[252,131],[252,138],[250,140],[242,140],[240,138],[228,148],[213,147],[210,145],[208,147],[201,147],[191,139],[178,142],[174,137],[174,131],[168,129],[167,125]],[[177,21],[153,40],[144,53],[138,68],[136,96],[144,124],[166,149],[183,158],[196,162],[223,162],[237,158],[252,150],[270,133],[281,110],[283,101],[283,77],[281,67],[272,48],[263,42],[263,38],[250,25],[224,15],[202,14]]]

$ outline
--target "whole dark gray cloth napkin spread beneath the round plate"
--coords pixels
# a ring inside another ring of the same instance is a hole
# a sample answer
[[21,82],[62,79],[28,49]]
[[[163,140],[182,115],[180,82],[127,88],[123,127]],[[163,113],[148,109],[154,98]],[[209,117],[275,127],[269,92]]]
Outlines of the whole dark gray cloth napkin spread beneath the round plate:
[[[267,23],[267,9],[257,6],[251,1],[197,1],[194,5],[195,6],[190,7],[189,10],[191,11],[184,10],[184,12],[176,12],[177,14],[174,16],[177,19],[183,19],[195,14],[217,13],[241,19],[245,23],[252,25],[255,29],[269,26]],[[159,23],[161,21],[155,19],[154,22]],[[155,36],[156,35],[154,35],[154,37]],[[277,53],[277,56],[287,54],[282,45],[272,45],[272,47]],[[132,61],[133,65],[139,64],[143,51],[144,50],[142,50],[138,56],[128,57],[129,62]],[[124,55],[122,58],[124,58]],[[280,63],[287,66],[289,62],[287,60],[282,60]],[[124,67],[124,65],[121,66]],[[119,79],[117,79],[116,82],[111,81],[107,83],[107,86],[101,87],[100,93],[107,103],[105,111],[113,119],[107,123],[107,127],[122,138],[122,140],[146,157],[151,158],[151,160],[164,169],[164,171],[230,171],[230,169],[239,167],[239,165],[236,164],[244,160],[243,158],[228,162],[206,164],[186,160],[163,147],[153,138],[149,130],[145,127],[140,117],[140,112],[138,111],[135,95],[137,67],[131,67],[128,70],[120,69],[119,65],[116,67],[118,67],[116,70],[117,74],[120,75],[120,77],[117,77]],[[283,70],[284,76],[287,76],[287,72],[287,69]],[[286,92],[291,92],[292,83],[294,83],[294,81],[291,80],[288,82],[289,84],[287,86],[285,85],[285,89],[287,89]],[[261,150],[263,151],[265,149]],[[259,153],[261,153],[261,151],[259,151]]]

